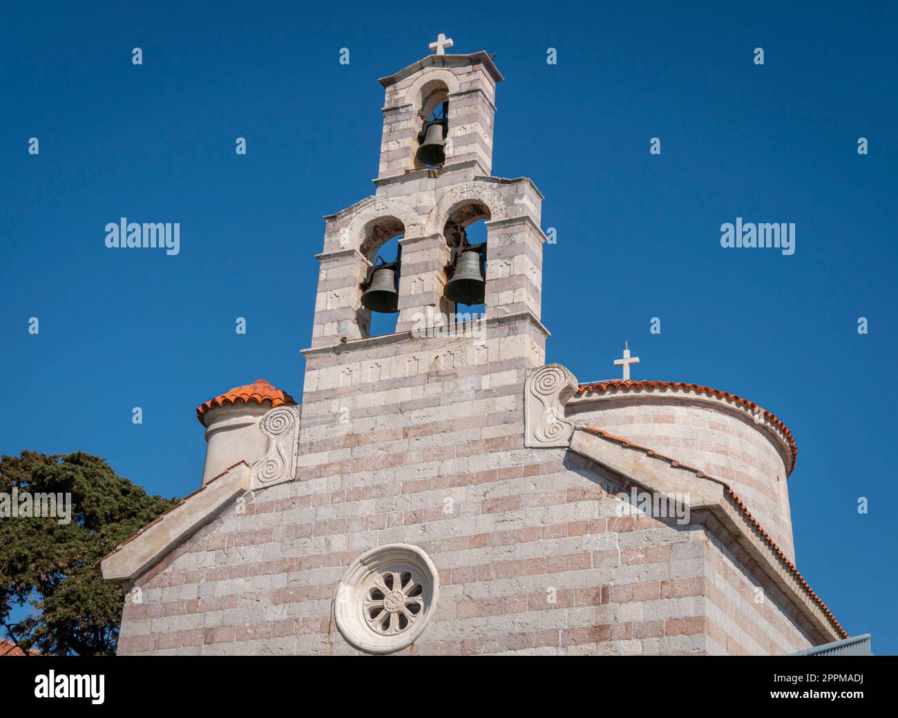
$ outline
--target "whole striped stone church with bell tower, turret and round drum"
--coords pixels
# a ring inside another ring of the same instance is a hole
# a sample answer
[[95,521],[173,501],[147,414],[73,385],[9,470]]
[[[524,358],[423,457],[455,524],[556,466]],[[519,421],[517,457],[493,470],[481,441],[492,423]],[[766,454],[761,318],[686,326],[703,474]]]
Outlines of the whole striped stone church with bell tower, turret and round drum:
[[[779,419],[545,363],[543,198],[491,175],[503,78],[449,43],[380,80],[376,190],[325,218],[301,405],[263,380],[201,405],[201,487],[104,558],[128,590],[119,654],[767,655],[846,637],[795,565]],[[484,311],[466,315],[448,286],[481,221]],[[396,330],[370,336],[364,295],[396,237]]]

